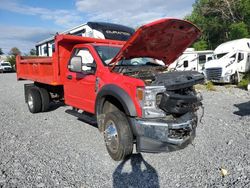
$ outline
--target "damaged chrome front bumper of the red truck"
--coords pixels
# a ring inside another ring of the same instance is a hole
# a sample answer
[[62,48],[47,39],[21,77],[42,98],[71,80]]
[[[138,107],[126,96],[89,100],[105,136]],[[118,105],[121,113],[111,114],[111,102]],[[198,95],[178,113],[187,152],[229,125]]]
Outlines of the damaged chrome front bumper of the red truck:
[[138,152],[171,152],[185,148],[195,137],[197,116],[186,113],[175,120],[133,119]]

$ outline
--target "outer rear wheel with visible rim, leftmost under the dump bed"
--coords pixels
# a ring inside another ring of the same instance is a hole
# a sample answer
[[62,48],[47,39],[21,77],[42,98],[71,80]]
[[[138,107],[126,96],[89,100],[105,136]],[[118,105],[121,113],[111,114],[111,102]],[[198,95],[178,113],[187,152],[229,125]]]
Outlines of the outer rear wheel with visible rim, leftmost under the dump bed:
[[27,93],[27,104],[31,113],[38,113],[42,110],[42,99],[37,88],[30,88]]

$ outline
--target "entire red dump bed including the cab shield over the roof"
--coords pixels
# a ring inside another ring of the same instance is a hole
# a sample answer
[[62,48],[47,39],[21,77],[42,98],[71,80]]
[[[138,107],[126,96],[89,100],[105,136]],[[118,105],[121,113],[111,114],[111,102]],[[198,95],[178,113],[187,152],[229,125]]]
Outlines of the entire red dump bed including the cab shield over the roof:
[[96,39],[72,35],[55,37],[55,52],[52,57],[17,56],[17,79],[32,80],[49,85],[63,85],[71,51],[76,44],[102,43],[123,45],[124,41]]

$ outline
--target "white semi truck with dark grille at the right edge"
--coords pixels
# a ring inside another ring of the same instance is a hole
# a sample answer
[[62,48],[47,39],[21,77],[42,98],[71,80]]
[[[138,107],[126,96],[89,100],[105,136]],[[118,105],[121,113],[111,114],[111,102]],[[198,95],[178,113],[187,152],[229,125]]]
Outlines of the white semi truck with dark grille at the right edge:
[[214,60],[205,64],[207,80],[237,84],[250,71],[250,39],[225,42],[214,50]]

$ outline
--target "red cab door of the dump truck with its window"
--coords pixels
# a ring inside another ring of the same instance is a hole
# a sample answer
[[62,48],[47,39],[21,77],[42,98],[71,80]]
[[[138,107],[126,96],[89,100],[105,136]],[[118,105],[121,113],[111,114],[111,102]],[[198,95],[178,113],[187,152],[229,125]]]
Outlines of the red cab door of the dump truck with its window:
[[91,49],[88,47],[76,48],[73,51],[71,59],[76,56],[81,57],[82,69],[80,72],[72,71],[70,69],[71,61],[69,61],[64,85],[65,103],[81,110],[94,113],[96,98],[96,61]]

